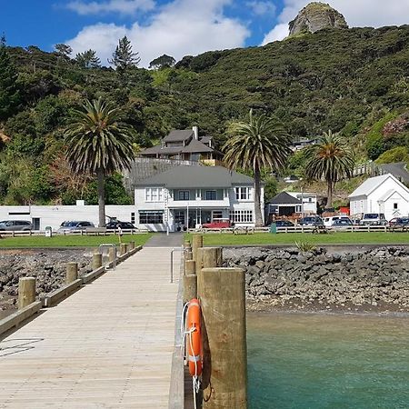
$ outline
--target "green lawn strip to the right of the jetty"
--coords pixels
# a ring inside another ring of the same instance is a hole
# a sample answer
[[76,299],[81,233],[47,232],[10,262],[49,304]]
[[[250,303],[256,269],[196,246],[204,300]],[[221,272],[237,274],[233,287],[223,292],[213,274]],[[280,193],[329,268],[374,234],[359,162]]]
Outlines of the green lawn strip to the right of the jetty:
[[[191,234],[186,234],[188,238]],[[256,234],[203,234],[205,245],[253,244],[409,244],[409,233],[256,233]]]

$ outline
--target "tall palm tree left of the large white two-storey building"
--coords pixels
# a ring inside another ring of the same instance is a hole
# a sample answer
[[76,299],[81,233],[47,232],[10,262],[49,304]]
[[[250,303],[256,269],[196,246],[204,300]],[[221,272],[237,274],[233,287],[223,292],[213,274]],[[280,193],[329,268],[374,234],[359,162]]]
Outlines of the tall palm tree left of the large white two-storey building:
[[128,126],[118,122],[118,110],[101,98],[86,100],[83,108],[65,130],[65,157],[76,174],[96,174],[99,226],[105,227],[105,175],[129,169],[133,140]]

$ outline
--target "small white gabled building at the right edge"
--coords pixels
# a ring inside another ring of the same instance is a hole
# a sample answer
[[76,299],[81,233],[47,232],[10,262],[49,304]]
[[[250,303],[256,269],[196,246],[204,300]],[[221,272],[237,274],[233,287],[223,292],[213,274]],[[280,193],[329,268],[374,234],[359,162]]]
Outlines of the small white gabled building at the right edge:
[[386,220],[409,216],[409,189],[391,174],[370,177],[349,198],[352,215],[383,213]]

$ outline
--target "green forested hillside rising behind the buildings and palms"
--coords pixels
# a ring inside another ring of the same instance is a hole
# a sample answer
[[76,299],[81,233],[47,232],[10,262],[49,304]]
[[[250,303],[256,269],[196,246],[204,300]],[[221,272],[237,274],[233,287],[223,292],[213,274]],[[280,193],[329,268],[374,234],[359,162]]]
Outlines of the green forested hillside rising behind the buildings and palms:
[[[61,50],[3,46],[0,203],[95,203],[92,178],[74,177],[65,164],[63,134],[84,99],[98,96],[121,108],[135,152],[192,125],[223,142],[228,121],[254,108],[278,116],[294,139],[332,129],[356,146],[358,160],[396,146],[408,160],[409,26],[327,29],[126,72]],[[129,203],[120,176],[107,183],[107,203]]]

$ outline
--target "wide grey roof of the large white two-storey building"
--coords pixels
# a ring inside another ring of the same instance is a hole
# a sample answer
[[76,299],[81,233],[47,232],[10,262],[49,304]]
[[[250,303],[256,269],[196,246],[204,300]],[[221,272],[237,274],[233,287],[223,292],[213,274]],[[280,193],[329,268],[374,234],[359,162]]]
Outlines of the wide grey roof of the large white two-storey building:
[[168,188],[224,188],[232,185],[253,185],[253,178],[230,171],[222,166],[177,166],[148,177],[138,186],[166,186]]

